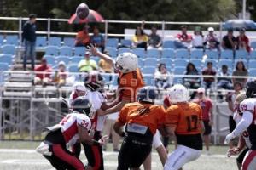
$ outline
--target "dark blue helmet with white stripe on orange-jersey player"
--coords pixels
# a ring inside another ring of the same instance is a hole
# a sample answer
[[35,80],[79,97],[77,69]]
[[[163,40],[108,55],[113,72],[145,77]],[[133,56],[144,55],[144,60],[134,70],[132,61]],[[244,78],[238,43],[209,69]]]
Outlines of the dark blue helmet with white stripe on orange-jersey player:
[[154,103],[156,98],[155,88],[151,86],[146,86],[140,88],[137,92],[137,100],[139,102]]

